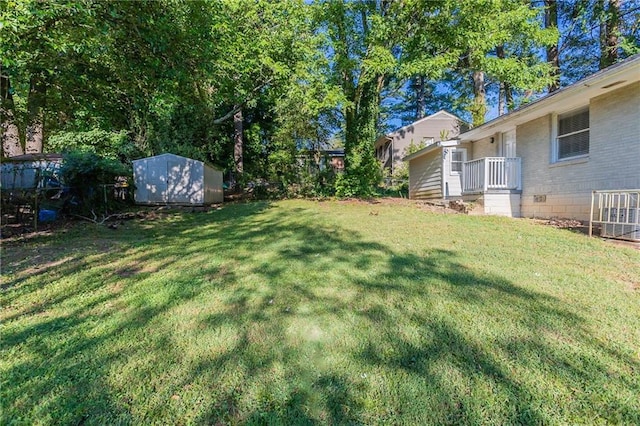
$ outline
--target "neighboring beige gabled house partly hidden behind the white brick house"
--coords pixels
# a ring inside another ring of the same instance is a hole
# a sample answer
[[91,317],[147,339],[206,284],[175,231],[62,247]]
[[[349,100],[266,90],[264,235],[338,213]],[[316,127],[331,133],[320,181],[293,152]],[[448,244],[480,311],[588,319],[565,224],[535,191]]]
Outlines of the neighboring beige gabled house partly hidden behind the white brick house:
[[441,140],[453,139],[466,129],[466,124],[453,114],[444,110],[421,118],[407,126],[401,127],[387,135],[380,136],[375,142],[376,158],[383,169],[391,173],[402,166],[402,158],[407,155],[407,148],[429,145]]

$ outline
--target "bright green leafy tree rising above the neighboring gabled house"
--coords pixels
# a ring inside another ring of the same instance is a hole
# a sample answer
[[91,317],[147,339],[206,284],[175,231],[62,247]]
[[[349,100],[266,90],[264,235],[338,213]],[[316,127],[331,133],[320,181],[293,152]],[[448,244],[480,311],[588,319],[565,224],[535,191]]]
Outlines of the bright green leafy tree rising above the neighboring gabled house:
[[482,124],[493,81],[508,91],[537,91],[548,83],[549,67],[537,50],[553,43],[557,31],[541,28],[539,13],[519,1],[416,0],[405,13],[410,31],[403,72],[440,79],[453,71],[474,125]]

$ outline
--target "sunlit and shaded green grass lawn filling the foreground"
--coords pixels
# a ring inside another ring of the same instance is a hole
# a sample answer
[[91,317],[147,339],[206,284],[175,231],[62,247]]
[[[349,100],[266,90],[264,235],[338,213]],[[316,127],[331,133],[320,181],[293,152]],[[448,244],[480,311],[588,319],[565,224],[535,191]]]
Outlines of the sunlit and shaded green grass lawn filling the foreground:
[[640,251],[283,201],[2,247],[1,424],[640,423]]

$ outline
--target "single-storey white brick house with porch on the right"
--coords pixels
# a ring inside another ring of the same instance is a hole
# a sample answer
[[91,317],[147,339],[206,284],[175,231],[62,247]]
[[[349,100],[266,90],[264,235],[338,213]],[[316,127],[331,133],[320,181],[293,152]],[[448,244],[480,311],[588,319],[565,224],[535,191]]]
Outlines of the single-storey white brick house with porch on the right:
[[587,221],[593,191],[622,191],[625,220],[637,222],[640,55],[405,160],[410,198],[461,198],[486,214]]

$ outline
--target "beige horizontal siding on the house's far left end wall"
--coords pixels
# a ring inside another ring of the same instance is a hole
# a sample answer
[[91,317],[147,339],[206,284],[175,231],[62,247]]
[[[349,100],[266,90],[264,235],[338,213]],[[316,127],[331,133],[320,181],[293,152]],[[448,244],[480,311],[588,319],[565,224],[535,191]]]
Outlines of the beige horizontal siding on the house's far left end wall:
[[409,198],[442,198],[442,149],[409,161]]

